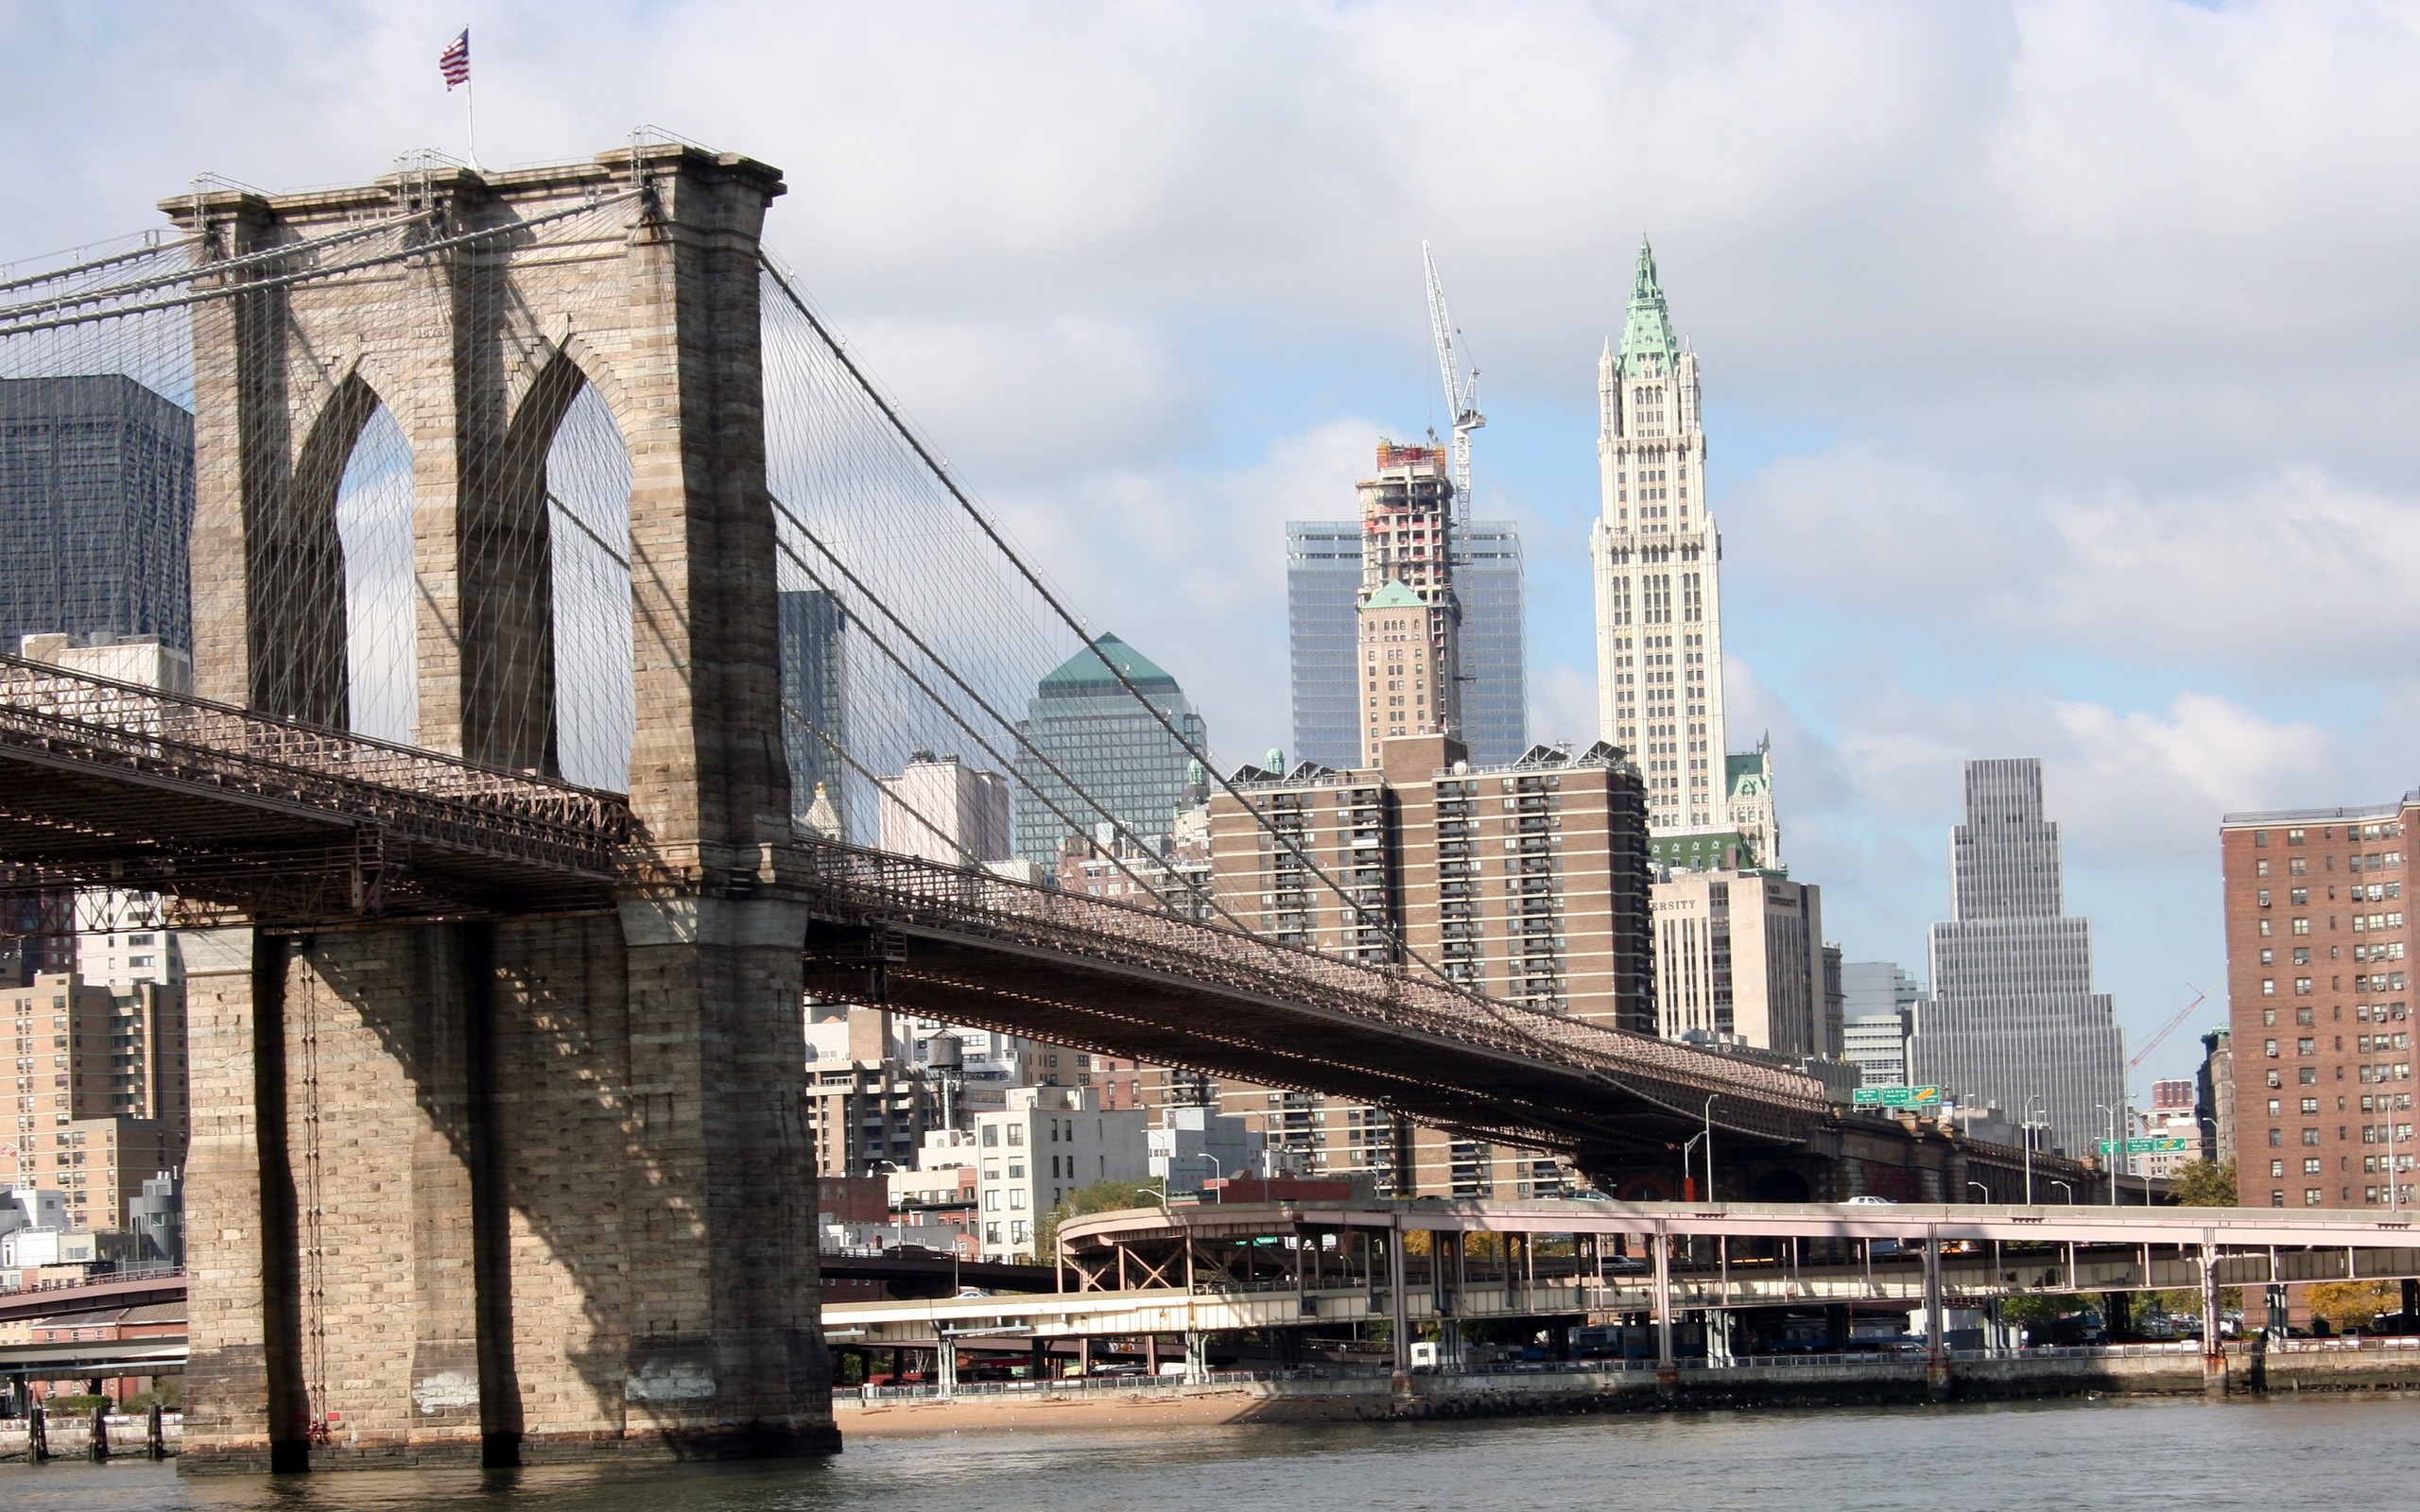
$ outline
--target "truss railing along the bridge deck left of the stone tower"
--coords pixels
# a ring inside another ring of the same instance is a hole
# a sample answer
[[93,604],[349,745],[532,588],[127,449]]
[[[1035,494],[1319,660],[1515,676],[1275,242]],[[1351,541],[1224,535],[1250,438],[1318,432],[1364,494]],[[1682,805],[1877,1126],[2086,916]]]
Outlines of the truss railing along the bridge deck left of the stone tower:
[[620,793],[17,656],[0,656],[0,745],[598,878],[632,837]]

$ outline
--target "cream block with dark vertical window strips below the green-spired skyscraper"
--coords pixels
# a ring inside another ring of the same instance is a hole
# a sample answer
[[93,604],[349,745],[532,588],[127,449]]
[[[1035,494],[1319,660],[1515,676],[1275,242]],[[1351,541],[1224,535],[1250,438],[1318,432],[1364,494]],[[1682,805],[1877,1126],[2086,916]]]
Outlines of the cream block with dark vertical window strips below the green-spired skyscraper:
[[1815,885],[1762,871],[1689,871],[1658,881],[1653,900],[1658,1033],[1839,1057]]

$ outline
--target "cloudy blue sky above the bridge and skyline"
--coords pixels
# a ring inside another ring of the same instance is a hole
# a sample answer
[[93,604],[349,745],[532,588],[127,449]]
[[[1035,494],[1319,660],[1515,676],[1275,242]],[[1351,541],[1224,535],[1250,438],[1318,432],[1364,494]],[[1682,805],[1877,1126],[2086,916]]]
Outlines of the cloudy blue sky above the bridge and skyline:
[[1225,762],[1287,745],[1283,520],[1442,416],[1435,244],[1522,523],[1532,735],[1595,735],[1595,358],[1650,235],[1701,353],[1733,743],[1793,876],[1924,973],[1960,762],[2035,755],[2130,1079],[2224,1021],[2219,815],[2420,735],[2420,7],[34,5],[0,261],[211,172],[656,126]]

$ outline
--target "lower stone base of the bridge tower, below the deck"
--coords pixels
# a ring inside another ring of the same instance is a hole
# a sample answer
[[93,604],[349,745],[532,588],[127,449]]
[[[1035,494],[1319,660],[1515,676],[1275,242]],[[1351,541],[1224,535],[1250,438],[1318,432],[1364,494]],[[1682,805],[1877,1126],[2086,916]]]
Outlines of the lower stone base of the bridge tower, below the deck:
[[189,1466],[837,1447],[794,912],[189,936]]

